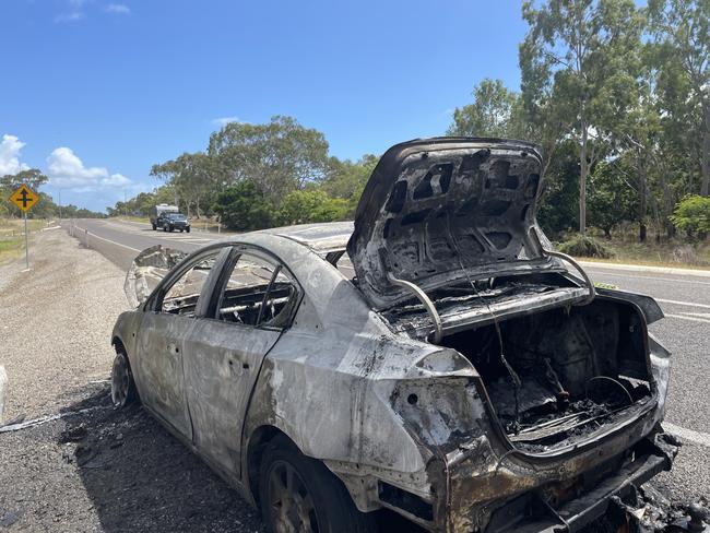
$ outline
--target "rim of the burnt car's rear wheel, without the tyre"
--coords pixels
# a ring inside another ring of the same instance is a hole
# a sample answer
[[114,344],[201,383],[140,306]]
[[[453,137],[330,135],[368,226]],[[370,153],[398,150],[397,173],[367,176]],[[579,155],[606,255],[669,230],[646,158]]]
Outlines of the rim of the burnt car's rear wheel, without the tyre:
[[276,533],[319,533],[316,506],[291,463],[275,461],[269,471],[269,508]]

